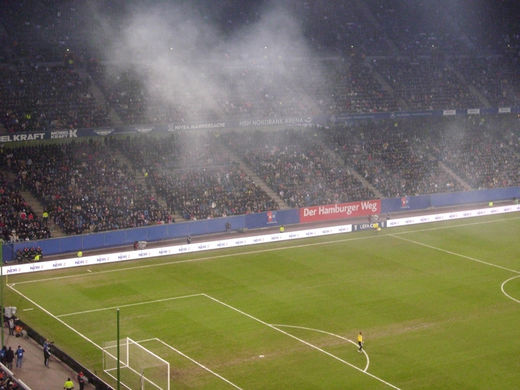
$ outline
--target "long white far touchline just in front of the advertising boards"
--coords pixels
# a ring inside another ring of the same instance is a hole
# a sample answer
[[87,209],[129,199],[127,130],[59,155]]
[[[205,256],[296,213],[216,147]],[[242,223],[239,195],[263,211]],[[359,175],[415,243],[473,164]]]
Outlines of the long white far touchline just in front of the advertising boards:
[[252,251],[227,253],[227,254],[223,254],[223,255],[197,257],[197,258],[185,259],[185,260],[171,260],[171,261],[164,261],[164,262],[155,263],[155,264],[121,267],[121,268],[116,268],[116,269],[109,269],[109,270],[89,272],[89,273],[82,272],[82,273],[77,273],[77,274],[73,274],[73,275],[54,276],[54,277],[50,277],[50,278],[24,280],[24,281],[13,283],[13,285],[97,276],[97,275],[108,274],[108,273],[113,273],[113,272],[125,272],[125,271],[140,270],[140,269],[147,269],[147,268],[166,267],[166,266],[177,265],[177,264],[194,263],[194,262],[215,260],[215,259],[221,259],[221,258],[233,257],[233,256],[253,255],[253,254],[258,254],[258,253],[275,252],[275,251],[286,250],[286,249],[297,249],[297,248],[306,248],[306,247],[311,247],[311,246],[331,245],[331,244],[337,244],[337,243],[349,242],[349,241],[372,240],[374,238],[380,238],[380,237],[388,237],[388,236],[394,237],[395,235],[398,235],[398,234],[401,235],[401,234],[410,234],[410,233],[415,233],[415,232],[456,229],[458,227],[483,225],[483,224],[488,224],[488,223],[499,223],[499,222],[502,223],[505,220],[510,221],[510,220],[515,220],[515,219],[520,219],[520,217],[507,218],[507,219],[501,218],[501,219],[492,220],[492,221],[469,222],[469,223],[456,224],[456,225],[450,225],[450,226],[438,226],[438,227],[434,227],[434,228],[414,229],[414,230],[398,232],[398,233],[376,234],[376,235],[363,236],[363,237],[349,237],[349,238],[344,238],[344,239],[320,241],[320,242],[313,242],[313,243],[308,243],[308,244],[286,245],[286,246],[280,246],[280,247],[276,247],[276,248],[264,248],[264,249],[257,249],[257,250],[252,250]]

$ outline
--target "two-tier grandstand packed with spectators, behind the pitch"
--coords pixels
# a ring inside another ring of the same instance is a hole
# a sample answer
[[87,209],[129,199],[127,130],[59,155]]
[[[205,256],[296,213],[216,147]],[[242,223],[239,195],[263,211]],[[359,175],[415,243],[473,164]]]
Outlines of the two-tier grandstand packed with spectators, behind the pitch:
[[188,3],[2,1],[4,262],[519,187],[514,1]]

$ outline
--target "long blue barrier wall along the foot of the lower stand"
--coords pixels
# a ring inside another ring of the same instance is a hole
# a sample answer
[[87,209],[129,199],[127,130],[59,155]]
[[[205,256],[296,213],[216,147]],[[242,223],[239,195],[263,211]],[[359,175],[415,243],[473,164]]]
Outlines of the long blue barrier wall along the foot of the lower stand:
[[[378,213],[395,213],[403,211],[424,210],[431,207],[455,206],[462,204],[481,203],[508,199],[520,199],[520,187],[496,188],[468,192],[455,192],[432,195],[405,196],[402,198],[387,198],[381,201],[363,201],[345,203],[347,206],[359,206],[361,214],[338,214],[337,219],[347,216],[368,215],[370,211]],[[375,205],[364,207],[364,204]],[[11,261],[16,258],[16,251],[26,247],[40,247],[45,255],[103,249],[123,245],[131,245],[135,241],[160,241],[182,238],[188,235],[198,236],[221,233],[226,231],[226,223],[231,224],[232,230],[261,229],[279,225],[294,225],[309,222],[304,211],[312,208],[267,211],[264,213],[247,214],[226,218],[207,219],[203,221],[180,222],[168,225],[155,225],[135,229],[124,229],[111,232],[84,234],[38,241],[24,241],[13,244],[4,244],[3,259]],[[363,214],[364,212],[368,214]],[[327,214],[328,215],[328,214]],[[321,219],[320,219],[321,220]]]

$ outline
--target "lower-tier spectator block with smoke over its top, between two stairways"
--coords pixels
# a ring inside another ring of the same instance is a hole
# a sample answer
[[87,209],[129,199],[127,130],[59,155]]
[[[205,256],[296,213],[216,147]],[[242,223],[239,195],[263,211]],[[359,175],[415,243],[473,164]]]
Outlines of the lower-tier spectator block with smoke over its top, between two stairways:
[[236,161],[216,148],[208,132],[178,132],[166,137],[138,136],[112,141],[132,156],[134,169],[187,220],[248,214],[276,209]]

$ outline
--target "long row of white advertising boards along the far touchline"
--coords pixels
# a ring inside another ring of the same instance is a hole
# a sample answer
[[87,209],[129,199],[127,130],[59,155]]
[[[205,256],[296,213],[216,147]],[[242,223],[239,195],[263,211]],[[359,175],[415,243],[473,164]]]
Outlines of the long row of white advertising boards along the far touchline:
[[[397,218],[387,221],[387,227],[396,227],[396,226],[404,226],[404,225],[412,225],[417,223],[428,223],[428,222],[438,222],[438,221],[446,221],[446,220],[455,220],[460,218],[471,218],[471,217],[479,217],[484,215],[495,215],[495,214],[503,214],[503,213],[512,213],[520,211],[520,205],[508,205],[508,206],[499,206],[499,207],[488,207],[484,209],[476,209],[476,210],[464,210],[464,211],[456,211],[442,214],[431,214],[431,215],[422,215],[417,217],[407,217],[407,218]],[[355,226],[355,228],[354,228]],[[380,227],[383,225],[377,225]],[[136,259],[144,259],[150,257],[159,257],[159,256],[171,256],[181,253],[192,253],[192,252],[201,252],[222,248],[233,248],[240,247],[246,245],[256,245],[256,244],[265,244],[271,242],[279,242],[279,241],[288,241],[288,240],[297,240],[304,239],[309,237],[320,237],[331,234],[342,234],[342,233],[350,233],[354,230],[366,230],[376,227],[370,224],[356,224],[356,225],[341,225],[341,226],[331,226],[331,227],[322,227],[317,229],[306,229],[306,230],[296,230],[293,232],[284,232],[284,233],[276,233],[276,234],[266,234],[266,235],[256,235],[256,236],[248,236],[248,237],[237,237],[225,240],[215,240],[215,241],[207,241],[195,244],[184,244],[184,245],[173,245],[161,248],[150,248],[150,249],[142,249],[142,250],[133,250],[119,253],[108,253],[103,255],[96,256],[86,256],[86,257],[74,257],[69,259],[62,260],[54,260],[54,261],[43,261],[41,263],[26,263],[26,264],[16,264],[16,265],[7,265],[2,267],[3,275],[15,275],[22,273],[30,273],[30,272],[39,272],[39,271],[49,271],[54,269],[63,269],[63,268],[71,268],[71,267],[81,267],[86,265],[95,265],[95,264],[105,264],[105,263],[115,263],[122,262],[128,260],[136,260]]]

